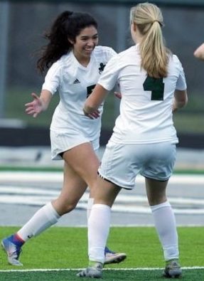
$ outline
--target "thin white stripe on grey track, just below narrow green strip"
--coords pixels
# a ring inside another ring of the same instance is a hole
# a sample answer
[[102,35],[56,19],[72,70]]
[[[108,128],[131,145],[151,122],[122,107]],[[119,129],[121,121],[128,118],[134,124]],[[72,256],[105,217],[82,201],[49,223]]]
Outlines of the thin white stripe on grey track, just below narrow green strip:
[[[33,182],[40,181],[58,183],[63,182],[63,172],[46,172],[46,171],[1,171],[0,172],[0,181],[9,181],[9,182]],[[136,182],[143,183],[144,177],[137,176]],[[177,184],[204,184],[203,175],[173,175],[169,180],[170,183]]]

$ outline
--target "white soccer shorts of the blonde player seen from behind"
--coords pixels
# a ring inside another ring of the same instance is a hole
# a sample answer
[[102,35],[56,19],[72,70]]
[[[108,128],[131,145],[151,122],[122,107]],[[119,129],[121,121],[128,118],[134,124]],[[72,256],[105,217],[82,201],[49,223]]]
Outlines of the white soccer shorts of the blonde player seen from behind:
[[137,174],[166,181],[176,161],[176,144],[116,144],[109,141],[99,174],[124,189],[133,189]]

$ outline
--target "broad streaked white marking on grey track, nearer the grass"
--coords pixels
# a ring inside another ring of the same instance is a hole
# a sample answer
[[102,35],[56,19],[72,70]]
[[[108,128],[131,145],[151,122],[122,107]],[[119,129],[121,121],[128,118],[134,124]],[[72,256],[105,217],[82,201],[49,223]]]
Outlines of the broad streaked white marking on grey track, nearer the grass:
[[[43,188],[39,189],[36,187],[0,186],[0,203],[18,203],[23,205],[42,206],[58,196],[58,194],[59,191]],[[77,208],[86,209],[87,198],[88,193],[85,193],[80,199],[80,202],[77,204]],[[174,212],[177,214],[204,214],[204,199],[169,197],[168,200],[172,204],[176,203],[177,206],[180,206],[180,208],[173,208]],[[144,206],[136,206],[136,203],[143,203]],[[126,213],[151,213],[146,196],[133,194],[119,194],[112,210],[115,212]]]

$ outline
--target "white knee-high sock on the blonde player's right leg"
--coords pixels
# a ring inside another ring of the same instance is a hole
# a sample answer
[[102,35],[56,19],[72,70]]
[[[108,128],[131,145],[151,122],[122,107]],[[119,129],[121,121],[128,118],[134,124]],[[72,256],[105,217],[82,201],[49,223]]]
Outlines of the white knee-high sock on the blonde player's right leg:
[[164,260],[178,259],[178,234],[176,219],[171,204],[166,201],[156,206],[151,206],[159,240],[163,247]]

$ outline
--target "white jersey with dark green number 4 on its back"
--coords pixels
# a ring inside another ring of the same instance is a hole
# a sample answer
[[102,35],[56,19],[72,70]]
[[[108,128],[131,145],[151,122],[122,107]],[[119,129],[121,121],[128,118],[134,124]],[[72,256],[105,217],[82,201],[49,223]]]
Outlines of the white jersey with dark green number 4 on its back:
[[136,44],[109,60],[98,83],[107,90],[119,83],[122,93],[112,142],[178,142],[172,120],[173,95],[175,90],[186,90],[186,79],[176,55],[169,58],[166,78],[150,78],[141,68]]

